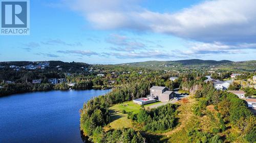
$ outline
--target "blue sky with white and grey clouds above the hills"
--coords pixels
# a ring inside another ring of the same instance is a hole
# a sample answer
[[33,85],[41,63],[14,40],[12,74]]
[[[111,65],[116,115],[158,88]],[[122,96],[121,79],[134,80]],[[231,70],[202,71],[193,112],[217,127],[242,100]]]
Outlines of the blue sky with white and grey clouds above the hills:
[[33,0],[30,35],[0,36],[0,61],[256,60],[255,13],[255,0]]

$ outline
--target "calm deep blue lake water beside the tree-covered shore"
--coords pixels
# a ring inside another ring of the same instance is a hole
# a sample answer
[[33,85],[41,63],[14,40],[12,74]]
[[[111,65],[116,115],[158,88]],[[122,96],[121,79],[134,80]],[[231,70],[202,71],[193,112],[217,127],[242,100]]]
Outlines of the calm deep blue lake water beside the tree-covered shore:
[[0,98],[0,142],[82,142],[79,109],[108,92],[50,91]]

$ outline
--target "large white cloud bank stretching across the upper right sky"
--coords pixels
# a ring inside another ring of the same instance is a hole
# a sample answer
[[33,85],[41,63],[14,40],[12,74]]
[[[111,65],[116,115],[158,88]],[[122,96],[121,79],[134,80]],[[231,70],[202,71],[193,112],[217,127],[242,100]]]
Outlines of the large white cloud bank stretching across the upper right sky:
[[66,0],[99,29],[129,29],[176,35],[201,42],[252,42],[256,36],[256,1],[217,0],[158,13],[141,8],[139,1]]

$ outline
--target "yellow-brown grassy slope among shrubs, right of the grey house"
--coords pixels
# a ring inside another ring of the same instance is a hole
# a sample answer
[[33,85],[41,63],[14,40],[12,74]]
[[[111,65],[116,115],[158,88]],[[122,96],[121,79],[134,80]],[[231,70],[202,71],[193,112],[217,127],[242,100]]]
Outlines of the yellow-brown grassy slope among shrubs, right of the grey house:
[[[205,115],[198,117],[193,113],[193,106],[197,104],[197,101],[193,97],[189,97],[187,102],[179,101],[181,106],[179,110],[179,126],[172,131],[162,134],[161,140],[168,140],[168,142],[196,142],[197,140],[190,140],[187,134],[189,129],[195,127],[205,132],[212,133],[212,129],[217,127],[219,122],[217,118],[217,111],[213,105],[207,106]],[[223,133],[219,133],[220,136],[225,138],[225,142],[247,142],[240,135],[240,131],[237,127],[233,127],[227,124],[227,129]]]

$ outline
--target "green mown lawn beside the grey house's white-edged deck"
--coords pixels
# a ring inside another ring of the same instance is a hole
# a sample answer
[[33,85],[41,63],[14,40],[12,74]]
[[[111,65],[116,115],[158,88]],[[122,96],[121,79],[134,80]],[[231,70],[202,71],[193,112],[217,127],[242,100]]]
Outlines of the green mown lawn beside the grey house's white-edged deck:
[[111,106],[110,109],[115,111],[125,110],[126,112],[138,113],[141,107],[140,105],[133,103],[133,101],[129,101]]

